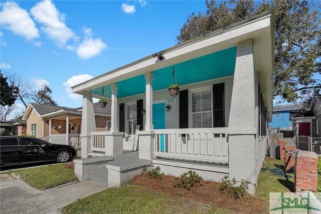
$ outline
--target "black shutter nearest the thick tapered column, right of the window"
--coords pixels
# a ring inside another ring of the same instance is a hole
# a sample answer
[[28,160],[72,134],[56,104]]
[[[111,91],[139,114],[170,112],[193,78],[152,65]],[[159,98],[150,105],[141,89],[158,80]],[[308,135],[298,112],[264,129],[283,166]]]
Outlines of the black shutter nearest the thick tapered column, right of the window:
[[213,127],[225,127],[224,83],[213,85]]

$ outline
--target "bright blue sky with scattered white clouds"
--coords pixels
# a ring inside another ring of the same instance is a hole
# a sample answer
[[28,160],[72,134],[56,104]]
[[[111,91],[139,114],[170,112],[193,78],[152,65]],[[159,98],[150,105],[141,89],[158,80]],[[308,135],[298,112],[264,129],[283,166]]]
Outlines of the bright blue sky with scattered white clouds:
[[70,108],[82,105],[71,86],[174,46],[189,15],[206,11],[205,0],[2,1],[0,8],[2,72],[33,89],[47,83]]

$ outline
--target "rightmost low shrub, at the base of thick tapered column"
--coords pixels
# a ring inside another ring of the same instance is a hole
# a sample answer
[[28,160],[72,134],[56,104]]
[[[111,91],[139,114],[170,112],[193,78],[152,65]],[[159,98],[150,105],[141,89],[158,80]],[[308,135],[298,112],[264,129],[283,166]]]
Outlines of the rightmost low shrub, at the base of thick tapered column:
[[232,180],[229,180],[229,176],[225,175],[222,178],[222,183],[217,186],[218,190],[221,192],[227,192],[229,196],[231,194],[234,195],[236,199],[240,198],[240,196],[244,195],[246,190],[249,188],[248,184],[250,184],[250,181],[246,181],[244,179],[241,180],[241,184],[239,186],[236,186],[236,179],[233,178]]

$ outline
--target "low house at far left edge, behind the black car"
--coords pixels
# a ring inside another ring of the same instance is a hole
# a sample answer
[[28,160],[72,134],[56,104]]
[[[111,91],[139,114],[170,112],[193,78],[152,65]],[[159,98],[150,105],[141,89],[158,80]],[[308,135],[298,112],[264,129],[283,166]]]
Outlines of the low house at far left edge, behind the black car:
[[0,135],[23,135],[27,134],[26,121],[0,122]]

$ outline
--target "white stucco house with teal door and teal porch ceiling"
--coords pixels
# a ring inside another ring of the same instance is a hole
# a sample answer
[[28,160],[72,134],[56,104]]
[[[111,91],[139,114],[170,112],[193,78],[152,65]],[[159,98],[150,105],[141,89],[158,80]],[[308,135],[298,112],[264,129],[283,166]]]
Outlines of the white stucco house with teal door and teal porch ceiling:
[[[263,13],[73,86],[83,95],[82,158],[97,145],[113,157],[105,164],[109,185],[151,163],[175,176],[193,170],[205,180],[245,179],[253,193],[272,117],[274,16]],[[169,93],[173,79],[177,96]],[[111,100],[109,132],[95,132],[92,97]],[[121,167],[117,157],[133,150],[135,125],[137,162]]]

